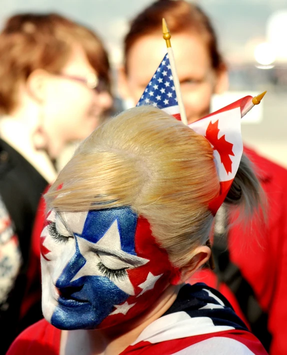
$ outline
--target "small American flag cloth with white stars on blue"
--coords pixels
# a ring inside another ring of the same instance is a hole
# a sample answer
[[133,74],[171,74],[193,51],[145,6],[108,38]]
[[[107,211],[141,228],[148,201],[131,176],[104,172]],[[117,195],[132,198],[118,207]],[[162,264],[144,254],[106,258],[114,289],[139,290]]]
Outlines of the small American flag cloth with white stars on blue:
[[180,120],[173,77],[166,53],[136,106],[152,105]]

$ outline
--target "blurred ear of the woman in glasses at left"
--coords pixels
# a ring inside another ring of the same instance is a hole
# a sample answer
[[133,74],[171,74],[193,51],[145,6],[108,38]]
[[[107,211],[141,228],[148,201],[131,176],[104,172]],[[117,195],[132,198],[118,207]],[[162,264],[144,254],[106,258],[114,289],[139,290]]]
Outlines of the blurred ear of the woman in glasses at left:
[[33,70],[26,80],[26,89],[38,103],[45,100],[46,84],[49,73],[43,69]]

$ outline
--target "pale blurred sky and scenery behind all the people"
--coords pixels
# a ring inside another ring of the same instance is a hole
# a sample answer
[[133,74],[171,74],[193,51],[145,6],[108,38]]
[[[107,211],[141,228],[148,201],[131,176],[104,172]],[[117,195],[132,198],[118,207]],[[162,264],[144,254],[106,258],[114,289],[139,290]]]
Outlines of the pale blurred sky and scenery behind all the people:
[[[57,11],[94,28],[105,42],[116,73],[127,23],[151,0],[10,0],[0,26],[20,11]],[[242,126],[247,145],[287,166],[287,2],[286,0],[200,0],[213,19],[229,66],[229,92],[213,108],[267,90]]]

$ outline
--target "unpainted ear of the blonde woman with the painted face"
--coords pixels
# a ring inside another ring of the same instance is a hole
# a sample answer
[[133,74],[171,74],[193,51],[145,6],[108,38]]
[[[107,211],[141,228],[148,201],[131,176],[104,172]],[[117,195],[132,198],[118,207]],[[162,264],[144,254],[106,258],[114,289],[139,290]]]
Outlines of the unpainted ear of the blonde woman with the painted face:
[[193,257],[190,263],[183,266],[180,270],[180,278],[178,284],[183,284],[198,270],[202,265],[204,265],[210,258],[211,250],[207,246],[200,246],[194,250]]

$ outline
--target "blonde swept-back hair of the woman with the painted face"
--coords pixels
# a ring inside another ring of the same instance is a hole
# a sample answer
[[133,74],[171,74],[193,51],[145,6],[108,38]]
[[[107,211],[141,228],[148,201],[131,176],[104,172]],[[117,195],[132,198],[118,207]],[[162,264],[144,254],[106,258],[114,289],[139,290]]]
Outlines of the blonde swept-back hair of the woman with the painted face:
[[213,216],[207,205],[218,193],[208,141],[144,106],[120,113],[87,137],[45,198],[60,211],[130,206],[181,267],[208,240]]

